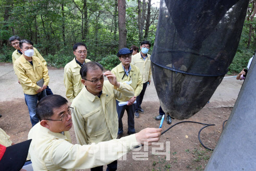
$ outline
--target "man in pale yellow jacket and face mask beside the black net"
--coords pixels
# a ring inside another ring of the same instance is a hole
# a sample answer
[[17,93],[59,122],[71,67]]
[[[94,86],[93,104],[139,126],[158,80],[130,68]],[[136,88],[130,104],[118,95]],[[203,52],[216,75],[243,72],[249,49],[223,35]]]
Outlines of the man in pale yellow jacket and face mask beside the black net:
[[151,43],[149,41],[143,41],[140,44],[141,51],[132,56],[131,64],[134,64],[136,67],[140,69],[140,73],[142,76],[143,88],[139,96],[137,96],[136,101],[136,111],[135,116],[139,116],[139,112],[144,113],[144,110],[141,108],[141,103],[145,94],[145,90],[150,85],[151,82],[151,60],[148,51],[150,49]]

